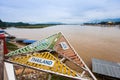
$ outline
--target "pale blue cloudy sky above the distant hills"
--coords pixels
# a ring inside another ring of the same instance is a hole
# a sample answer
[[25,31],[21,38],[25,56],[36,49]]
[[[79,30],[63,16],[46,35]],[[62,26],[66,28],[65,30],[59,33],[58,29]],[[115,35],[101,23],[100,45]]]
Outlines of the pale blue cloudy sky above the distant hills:
[[83,23],[120,18],[120,0],[0,0],[0,19],[7,22]]

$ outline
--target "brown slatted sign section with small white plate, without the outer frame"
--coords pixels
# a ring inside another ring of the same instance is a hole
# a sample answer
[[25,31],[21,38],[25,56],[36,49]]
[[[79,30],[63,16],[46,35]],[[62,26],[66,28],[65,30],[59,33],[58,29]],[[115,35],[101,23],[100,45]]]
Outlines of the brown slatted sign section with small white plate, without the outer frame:
[[66,40],[66,38],[63,35],[61,35],[59,40],[56,42],[54,49],[59,54],[64,55],[66,58],[73,61],[77,65],[84,67],[79,55],[75,52],[75,50],[71,47],[70,43]]

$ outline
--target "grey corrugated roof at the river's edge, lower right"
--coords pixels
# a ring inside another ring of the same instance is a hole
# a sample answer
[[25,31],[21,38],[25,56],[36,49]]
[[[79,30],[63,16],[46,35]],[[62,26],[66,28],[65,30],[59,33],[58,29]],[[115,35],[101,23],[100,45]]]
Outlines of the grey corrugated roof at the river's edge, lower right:
[[102,74],[120,79],[120,63],[93,58],[92,71],[97,74]]

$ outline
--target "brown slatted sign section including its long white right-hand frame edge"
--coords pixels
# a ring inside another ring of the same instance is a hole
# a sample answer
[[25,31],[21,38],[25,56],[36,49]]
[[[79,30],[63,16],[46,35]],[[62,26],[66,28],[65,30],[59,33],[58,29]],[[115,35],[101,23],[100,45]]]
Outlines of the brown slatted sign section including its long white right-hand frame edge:
[[63,34],[61,34],[56,44],[54,45],[54,50],[56,50],[59,54],[66,57],[68,60],[80,66],[83,69],[82,71],[83,75],[84,75],[84,72],[87,72],[94,80],[97,80],[93,75],[93,73],[90,71],[90,69],[87,67],[87,65],[84,63],[82,58],[78,55],[78,53],[71,46],[71,44]]

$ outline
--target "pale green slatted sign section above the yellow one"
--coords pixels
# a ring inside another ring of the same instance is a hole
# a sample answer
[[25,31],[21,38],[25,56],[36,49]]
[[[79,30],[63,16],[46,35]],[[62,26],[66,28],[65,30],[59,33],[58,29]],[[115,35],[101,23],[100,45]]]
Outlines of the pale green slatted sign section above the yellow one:
[[34,42],[33,44],[30,44],[18,50],[12,51],[8,53],[6,56],[14,56],[18,54],[26,54],[30,52],[39,51],[39,50],[52,49],[59,35],[60,33],[54,34],[41,41]]

